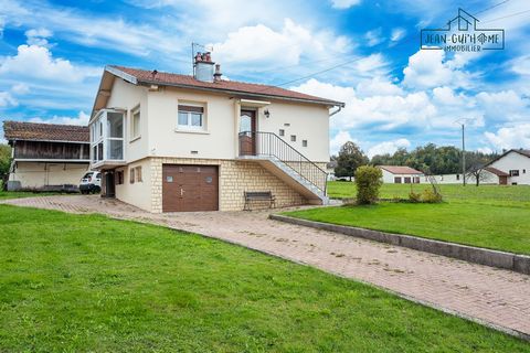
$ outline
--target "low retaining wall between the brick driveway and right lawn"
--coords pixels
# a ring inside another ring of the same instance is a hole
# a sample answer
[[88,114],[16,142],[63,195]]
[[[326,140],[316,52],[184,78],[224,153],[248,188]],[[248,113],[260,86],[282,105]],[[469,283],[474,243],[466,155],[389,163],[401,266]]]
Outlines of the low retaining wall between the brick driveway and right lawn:
[[486,248],[460,245],[455,243],[426,239],[411,235],[393,234],[350,227],[344,225],[336,225],[330,223],[295,218],[279,214],[272,214],[271,220],[303,225],[322,231],[341,233],[364,239],[403,246],[420,252],[443,255],[469,263],[504,268],[516,272],[530,275],[530,256],[490,250]]

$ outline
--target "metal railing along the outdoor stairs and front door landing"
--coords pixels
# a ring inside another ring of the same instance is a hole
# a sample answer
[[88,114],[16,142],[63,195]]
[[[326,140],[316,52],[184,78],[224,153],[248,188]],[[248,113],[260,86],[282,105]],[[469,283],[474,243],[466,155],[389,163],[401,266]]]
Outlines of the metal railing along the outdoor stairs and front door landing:
[[241,157],[274,157],[326,195],[328,173],[274,132],[243,131]]

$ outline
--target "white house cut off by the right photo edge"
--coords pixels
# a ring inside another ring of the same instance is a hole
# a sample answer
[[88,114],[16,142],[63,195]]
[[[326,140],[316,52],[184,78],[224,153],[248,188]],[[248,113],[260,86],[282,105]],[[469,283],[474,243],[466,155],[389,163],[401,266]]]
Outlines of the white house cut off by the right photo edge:
[[530,185],[530,150],[512,149],[489,162],[486,170],[502,173],[501,185]]

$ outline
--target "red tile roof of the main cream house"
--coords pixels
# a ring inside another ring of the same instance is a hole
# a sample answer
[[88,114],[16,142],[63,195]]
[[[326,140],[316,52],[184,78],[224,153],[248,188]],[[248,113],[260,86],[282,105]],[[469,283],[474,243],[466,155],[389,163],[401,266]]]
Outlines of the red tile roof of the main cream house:
[[326,104],[330,106],[343,106],[343,103],[336,101],[332,99],[326,99],[321,97],[316,97],[311,95],[306,95],[304,93],[294,92],[276,86],[261,85],[261,84],[251,84],[245,82],[237,81],[220,81],[220,82],[202,82],[195,79],[190,75],[180,75],[171,73],[157,72],[153,75],[153,72],[147,69],[124,67],[124,66],[108,66],[110,69],[118,69],[127,75],[135,77],[140,83],[146,84],[159,84],[168,86],[178,86],[178,87],[190,87],[198,89],[213,89],[220,92],[230,92],[230,93],[241,93],[248,95],[266,96],[266,97],[277,97],[277,98],[290,98],[297,100],[307,100],[312,103]]

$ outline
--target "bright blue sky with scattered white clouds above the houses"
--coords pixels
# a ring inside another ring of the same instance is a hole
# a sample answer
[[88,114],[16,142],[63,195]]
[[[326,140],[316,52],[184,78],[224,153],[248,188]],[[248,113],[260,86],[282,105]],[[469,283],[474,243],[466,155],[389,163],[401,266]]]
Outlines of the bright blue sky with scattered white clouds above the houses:
[[[459,7],[506,49],[421,51]],[[332,151],[458,146],[457,119],[471,149],[530,148],[529,34],[526,0],[0,0],[0,120],[86,124],[106,64],[189,74],[198,42],[229,79],[344,101]]]

